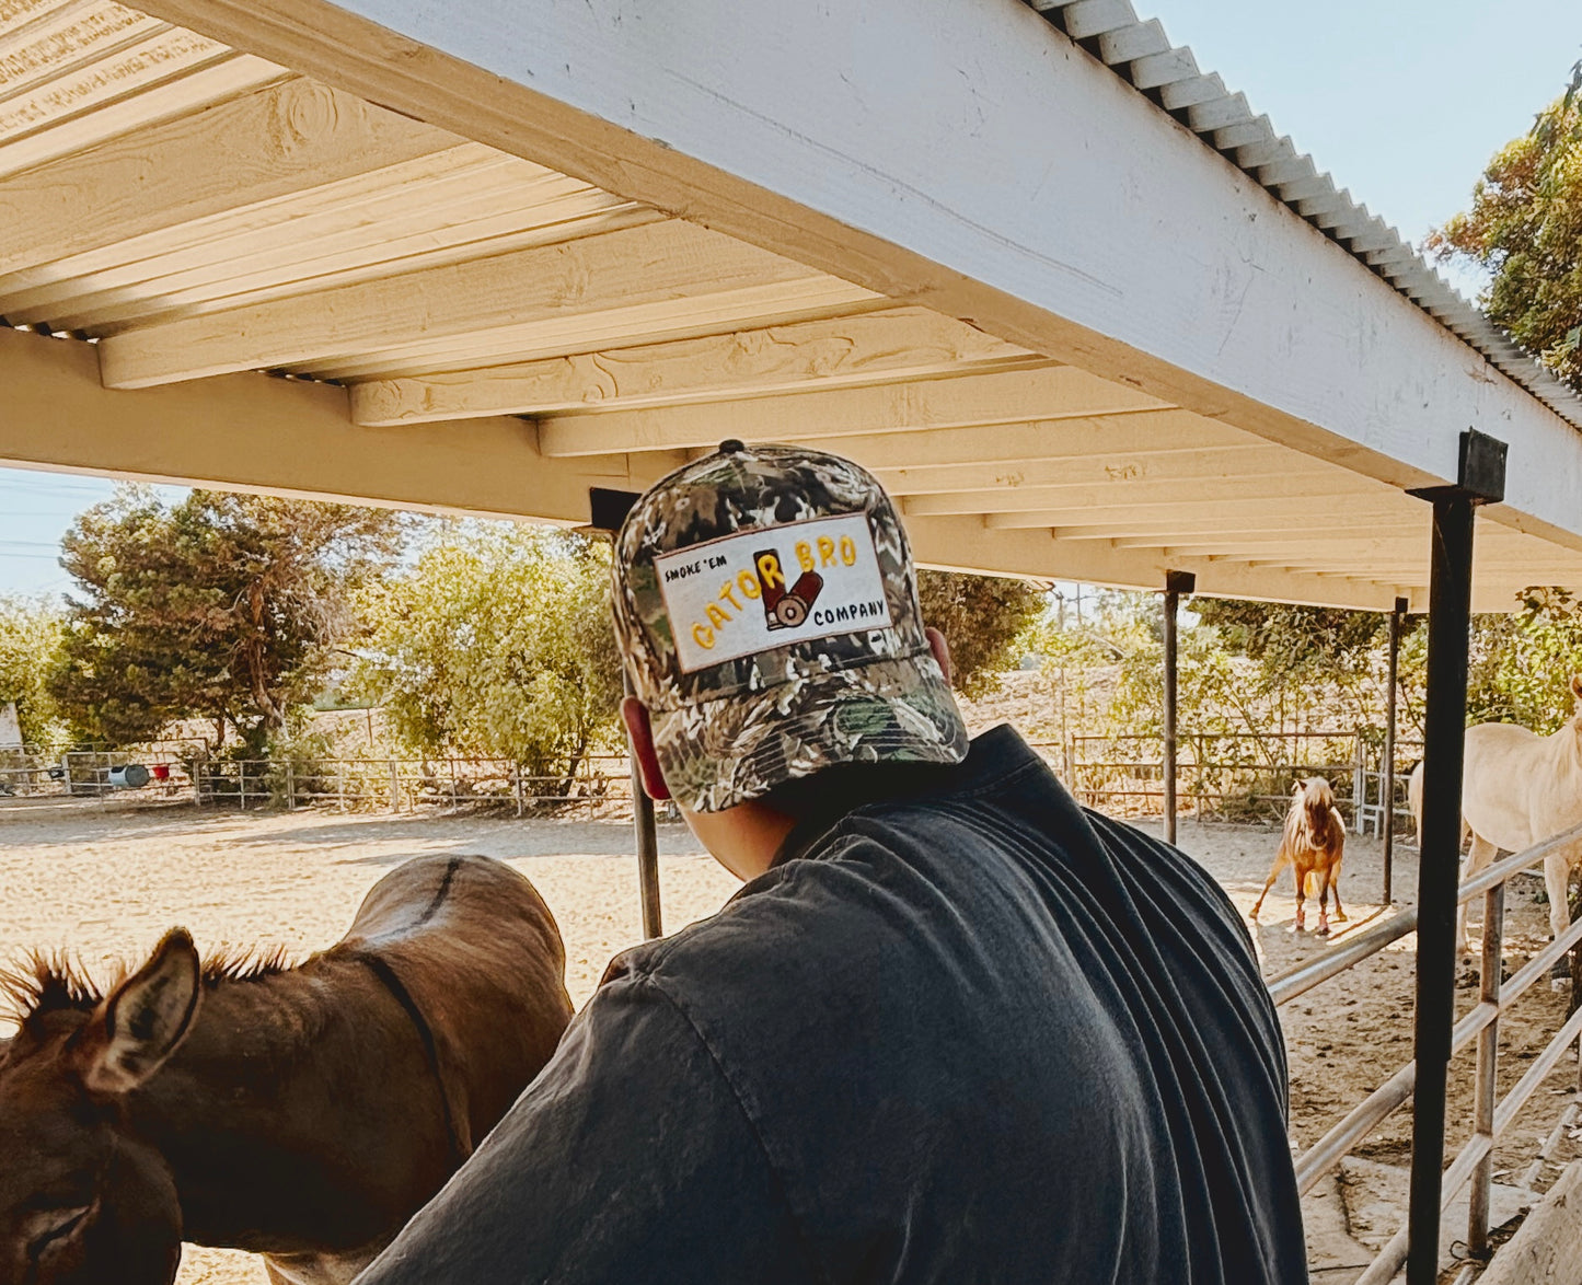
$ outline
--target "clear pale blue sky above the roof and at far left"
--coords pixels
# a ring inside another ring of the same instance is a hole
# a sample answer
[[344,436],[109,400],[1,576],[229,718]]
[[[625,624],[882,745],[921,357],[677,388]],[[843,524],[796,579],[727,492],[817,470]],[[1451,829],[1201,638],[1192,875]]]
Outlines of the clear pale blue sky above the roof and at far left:
[[[1582,57],[1582,0],[1134,0],[1198,66],[1421,242]],[[1467,294],[1478,282],[1452,275]],[[109,483],[0,468],[0,593],[68,587],[55,546]]]

